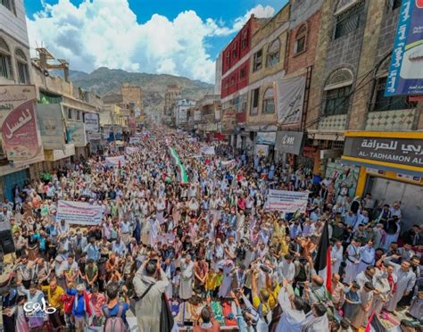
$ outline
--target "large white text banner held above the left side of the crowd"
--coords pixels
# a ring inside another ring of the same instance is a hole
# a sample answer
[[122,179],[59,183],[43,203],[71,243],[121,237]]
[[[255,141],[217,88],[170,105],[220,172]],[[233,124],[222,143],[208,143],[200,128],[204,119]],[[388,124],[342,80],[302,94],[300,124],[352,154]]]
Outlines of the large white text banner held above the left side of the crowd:
[[66,220],[70,224],[95,226],[103,220],[102,206],[85,202],[59,201],[57,205],[57,221]]

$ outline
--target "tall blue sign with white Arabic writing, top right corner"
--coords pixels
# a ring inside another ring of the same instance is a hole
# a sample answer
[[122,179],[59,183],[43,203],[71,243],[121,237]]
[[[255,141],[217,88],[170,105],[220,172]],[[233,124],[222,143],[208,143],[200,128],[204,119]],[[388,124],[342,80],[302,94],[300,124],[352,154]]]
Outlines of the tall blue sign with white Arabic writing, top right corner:
[[422,0],[402,0],[385,95],[423,95]]

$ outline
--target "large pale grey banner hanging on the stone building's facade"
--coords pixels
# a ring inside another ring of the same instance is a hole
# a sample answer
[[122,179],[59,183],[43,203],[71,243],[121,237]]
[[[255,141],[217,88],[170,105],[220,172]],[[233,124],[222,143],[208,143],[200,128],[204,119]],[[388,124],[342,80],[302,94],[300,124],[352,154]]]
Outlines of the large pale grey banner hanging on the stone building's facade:
[[300,125],[303,115],[305,76],[278,80],[278,123]]

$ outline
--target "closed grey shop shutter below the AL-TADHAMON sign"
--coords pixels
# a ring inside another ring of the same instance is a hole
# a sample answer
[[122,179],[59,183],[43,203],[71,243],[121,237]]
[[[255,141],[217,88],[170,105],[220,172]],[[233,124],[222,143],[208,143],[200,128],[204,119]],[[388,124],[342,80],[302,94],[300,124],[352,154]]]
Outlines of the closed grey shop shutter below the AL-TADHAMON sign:
[[423,212],[423,187],[393,179],[369,177],[366,193],[381,205],[401,202],[402,230],[419,223]]

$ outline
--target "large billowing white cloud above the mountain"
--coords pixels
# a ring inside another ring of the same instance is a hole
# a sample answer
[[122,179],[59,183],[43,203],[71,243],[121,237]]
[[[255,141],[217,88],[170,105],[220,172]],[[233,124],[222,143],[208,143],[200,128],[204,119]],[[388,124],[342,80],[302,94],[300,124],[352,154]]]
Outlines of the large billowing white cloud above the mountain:
[[275,12],[258,5],[227,27],[220,21],[203,21],[194,11],[180,12],[173,21],[154,14],[139,24],[128,0],[85,0],[79,6],[59,0],[43,6],[42,12],[27,20],[30,45],[46,46],[55,56],[69,60],[72,69],[89,72],[106,66],[206,82],[214,80],[215,62],[205,38],[233,34],[252,13],[270,17]]

